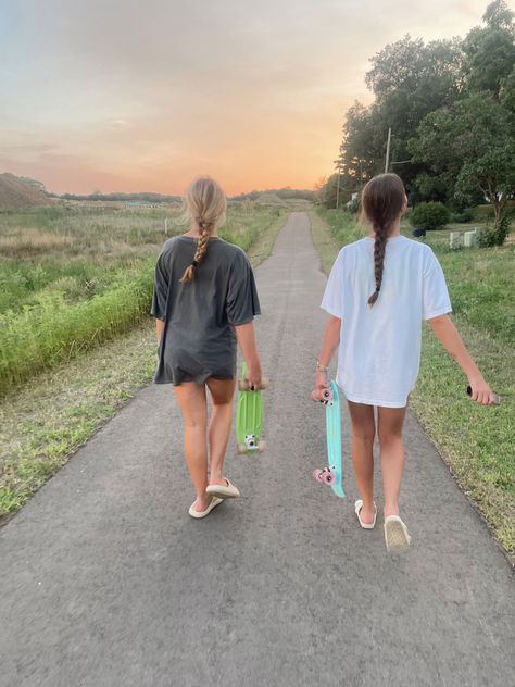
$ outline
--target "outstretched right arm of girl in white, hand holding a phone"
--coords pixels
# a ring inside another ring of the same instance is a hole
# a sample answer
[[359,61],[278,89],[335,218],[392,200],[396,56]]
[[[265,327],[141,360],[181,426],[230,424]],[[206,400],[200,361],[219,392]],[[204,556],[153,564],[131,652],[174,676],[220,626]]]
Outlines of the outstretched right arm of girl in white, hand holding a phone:
[[437,338],[467,376],[468,384],[472,387],[470,398],[483,405],[492,404],[494,402],[494,394],[485,382],[483,376],[479,372],[479,367],[467,351],[451,317],[449,315],[440,315],[428,320],[428,323],[431,325]]

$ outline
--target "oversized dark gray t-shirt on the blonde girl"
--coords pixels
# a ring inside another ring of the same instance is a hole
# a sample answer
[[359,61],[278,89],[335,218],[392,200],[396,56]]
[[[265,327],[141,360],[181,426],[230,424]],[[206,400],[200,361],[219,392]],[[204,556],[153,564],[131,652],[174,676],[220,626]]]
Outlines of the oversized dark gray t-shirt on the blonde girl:
[[151,312],[165,322],[154,376],[158,384],[233,379],[234,326],[261,313],[247,255],[218,237],[210,239],[193,279],[180,284],[196,250],[197,239],[175,236],[158,258]]

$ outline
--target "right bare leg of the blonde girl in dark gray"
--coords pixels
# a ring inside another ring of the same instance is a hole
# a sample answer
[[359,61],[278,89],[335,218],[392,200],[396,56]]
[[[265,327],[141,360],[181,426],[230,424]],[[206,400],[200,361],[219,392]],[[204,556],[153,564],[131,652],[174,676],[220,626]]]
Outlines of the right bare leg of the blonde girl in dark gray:
[[209,429],[211,459],[210,484],[226,484],[222,470],[233,421],[235,385],[236,379],[208,379],[208,388],[213,399]]

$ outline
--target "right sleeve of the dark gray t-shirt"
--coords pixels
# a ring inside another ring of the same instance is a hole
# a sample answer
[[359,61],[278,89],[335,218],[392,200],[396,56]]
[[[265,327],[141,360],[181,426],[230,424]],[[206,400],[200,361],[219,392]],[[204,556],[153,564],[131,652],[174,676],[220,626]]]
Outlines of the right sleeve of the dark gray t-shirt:
[[247,324],[261,314],[254,273],[243,251],[238,251],[230,270],[226,312],[234,326]]

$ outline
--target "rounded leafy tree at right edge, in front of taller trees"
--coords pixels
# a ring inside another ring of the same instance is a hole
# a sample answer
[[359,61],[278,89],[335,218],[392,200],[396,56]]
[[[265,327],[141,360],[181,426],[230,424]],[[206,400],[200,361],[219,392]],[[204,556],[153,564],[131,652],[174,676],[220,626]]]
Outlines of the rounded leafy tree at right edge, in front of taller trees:
[[489,92],[473,93],[425,117],[410,143],[454,197],[480,189],[492,203],[495,226],[515,192],[515,114]]

